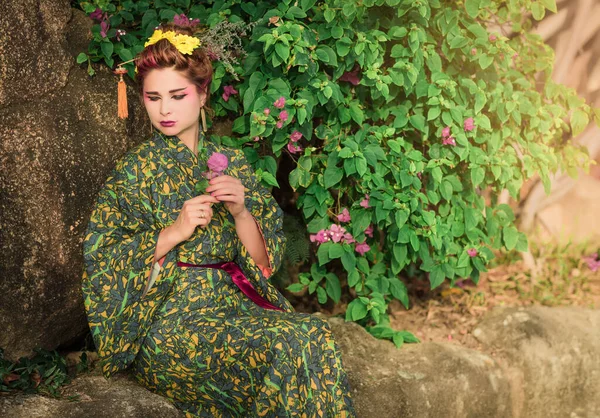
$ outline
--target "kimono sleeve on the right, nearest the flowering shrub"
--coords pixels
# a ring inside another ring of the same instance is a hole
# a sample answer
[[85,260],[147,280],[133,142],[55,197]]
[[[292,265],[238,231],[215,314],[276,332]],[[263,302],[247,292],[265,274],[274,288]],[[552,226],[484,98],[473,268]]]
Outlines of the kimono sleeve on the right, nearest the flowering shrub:
[[254,262],[248,250],[240,243],[239,253],[256,266],[265,279],[273,275],[281,266],[285,252],[285,235],[283,233],[283,211],[269,190],[258,181],[254,170],[246,160],[242,151],[237,151],[236,159],[240,162],[240,180],[245,186],[246,208],[254,218],[263,238],[268,256],[268,265],[262,266]]

